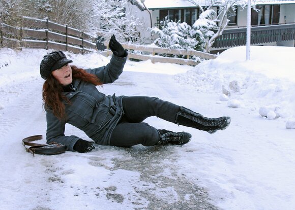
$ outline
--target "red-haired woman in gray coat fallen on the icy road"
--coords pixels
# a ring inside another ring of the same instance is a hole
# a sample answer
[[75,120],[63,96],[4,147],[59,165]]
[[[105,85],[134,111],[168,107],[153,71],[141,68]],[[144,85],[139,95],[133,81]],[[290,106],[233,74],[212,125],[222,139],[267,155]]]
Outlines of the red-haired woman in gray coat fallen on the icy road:
[[74,135],[65,136],[66,123],[84,131],[96,144],[121,147],[184,145],[190,141],[190,133],[160,130],[142,122],[151,116],[209,133],[228,127],[230,117],[206,118],[156,97],[106,96],[101,93],[96,86],[117,80],[128,55],[114,36],[109,48],[113,55],[107,65],[85,70],[69,65],[72,60],[67,59],[62,51],[44,56],[40,74],[46,80],[42,98],[47,143],[61,143],[69,151],[81,153],[94,149],[93,142]]

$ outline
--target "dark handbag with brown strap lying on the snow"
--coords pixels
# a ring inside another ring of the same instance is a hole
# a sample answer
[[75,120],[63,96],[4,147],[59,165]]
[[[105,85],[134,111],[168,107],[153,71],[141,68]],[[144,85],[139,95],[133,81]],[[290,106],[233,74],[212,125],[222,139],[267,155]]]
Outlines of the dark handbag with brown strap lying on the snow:
[[49,145],[41,145],[37,143],[32,143],[33,141],[37,141],[42,139],[42,135],[32,135],[28,136],[24,139],[22,139],[22,145],[25,146],[31,146],[29,148],[25,147],[25,151],[30,152],[35,156],[34,154],[40,154],[40,155],[56,155],[61,154],[67,151],[67,146],[58,144],[55,142],[50,143]]

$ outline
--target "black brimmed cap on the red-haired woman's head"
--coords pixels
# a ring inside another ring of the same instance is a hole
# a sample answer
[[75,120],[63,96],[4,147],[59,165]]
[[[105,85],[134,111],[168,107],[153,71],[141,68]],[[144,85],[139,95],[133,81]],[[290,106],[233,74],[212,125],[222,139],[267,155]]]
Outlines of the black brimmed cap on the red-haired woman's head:
[[40,63],[40,75],[46,80],[51,72],[71,62],[73,61],[67,59],[65,53],[60,50],[49,53]]

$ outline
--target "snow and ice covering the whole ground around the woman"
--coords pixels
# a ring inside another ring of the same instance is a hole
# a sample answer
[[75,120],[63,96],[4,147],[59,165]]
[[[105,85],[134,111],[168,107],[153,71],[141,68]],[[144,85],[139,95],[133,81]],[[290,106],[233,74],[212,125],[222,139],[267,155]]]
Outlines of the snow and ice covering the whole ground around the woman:
[[[208,117],[232,118],[209,134],[156,117],[157,127],[192,133],[182,147],[96,145],[90,153],[26,153],[23,137],[46,133],[39,63],[46,50],[0,50],[1,209],[293,209],[294,48],[231,48],[195,67],[127,61],[100,91],[148,95]],[[80,67],[107,64],[97,53],[67,56]],[[66,134],[89,139],[67,125]],[[41,141],[41,142],[44,142]]]

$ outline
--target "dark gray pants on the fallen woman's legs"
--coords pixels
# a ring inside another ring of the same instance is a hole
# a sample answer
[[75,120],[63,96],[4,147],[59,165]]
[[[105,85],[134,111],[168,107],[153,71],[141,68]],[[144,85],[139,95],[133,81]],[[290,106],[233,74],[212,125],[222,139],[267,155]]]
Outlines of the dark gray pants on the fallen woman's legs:
[[110,145],[131,147],[142,144],[154,146],[160,140],[158,130],[142,121],[156,116],[169,122],[175,122],[179,106],[156,97],[130,96],[123,98],[124,116],[114,128]]

